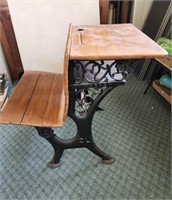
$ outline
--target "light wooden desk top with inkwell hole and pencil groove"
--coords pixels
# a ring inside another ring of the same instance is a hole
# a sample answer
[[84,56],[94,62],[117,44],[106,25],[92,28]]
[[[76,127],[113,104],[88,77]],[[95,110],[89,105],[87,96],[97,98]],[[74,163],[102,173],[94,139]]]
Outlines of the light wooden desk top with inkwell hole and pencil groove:
[[146,59],[167,52],[132,24],[73,26],[70,60]]

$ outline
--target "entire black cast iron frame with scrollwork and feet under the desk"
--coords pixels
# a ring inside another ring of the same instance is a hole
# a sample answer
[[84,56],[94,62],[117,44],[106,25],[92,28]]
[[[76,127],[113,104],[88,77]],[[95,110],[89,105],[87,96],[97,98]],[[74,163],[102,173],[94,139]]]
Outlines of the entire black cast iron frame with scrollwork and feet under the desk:
[[[64,150],[71,148],[87,148],[102,158],[104,164],[114,162],[113,158],[101,151],[95,144],[92,136],[92,120],[103,98],[115,87],[125,84],[125,77],[128,72],[131,72],[133,66],[128,60],[114,61],[110,66],[105,66],[104,61],[86,61],[84,65],[80,61],[69,61],[68,116],[75,122],[77,134],[72,139],[64,140],[57,137],[51,128],[35,127],[38,134],[47,139],[54,148],[54,156],[48,163],[48,167],[58,167]],[[96,72],[95,68],[97,68]],[[111,73],[112,68],[116,69],[115,73]],[[100,77],[102,69],[104,73]],[[87,77],[87,73],[91,74],[93,79],[89,80],[90,76]],[[121,75],[121,80],[115,80],[117,74]],[[110,75],[110,82],[107,75]]]

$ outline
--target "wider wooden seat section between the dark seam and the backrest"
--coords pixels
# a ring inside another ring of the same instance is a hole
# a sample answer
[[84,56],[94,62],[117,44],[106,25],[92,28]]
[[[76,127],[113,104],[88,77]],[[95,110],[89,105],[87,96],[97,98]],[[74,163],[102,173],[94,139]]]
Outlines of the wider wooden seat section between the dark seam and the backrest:
[[64,105],[63,75],[41,73],[21,124],[61,127]]

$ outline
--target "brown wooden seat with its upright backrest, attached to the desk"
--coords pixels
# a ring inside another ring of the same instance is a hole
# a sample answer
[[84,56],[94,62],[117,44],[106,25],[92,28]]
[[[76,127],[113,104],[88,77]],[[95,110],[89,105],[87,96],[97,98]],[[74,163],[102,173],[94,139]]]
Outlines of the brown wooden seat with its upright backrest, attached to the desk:
[[3,111],[0,124],[62,127],[68,112],[68,59],[70,29],[64,59],[64,74],[26,71]]

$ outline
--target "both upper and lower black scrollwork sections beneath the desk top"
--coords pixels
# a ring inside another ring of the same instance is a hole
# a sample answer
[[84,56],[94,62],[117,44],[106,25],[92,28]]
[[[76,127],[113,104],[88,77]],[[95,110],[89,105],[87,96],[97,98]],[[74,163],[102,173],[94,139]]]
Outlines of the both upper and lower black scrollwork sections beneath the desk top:
[[75,113],[85,116],[107,87],[125,84],[135,66],[131,60],[74,61]]

